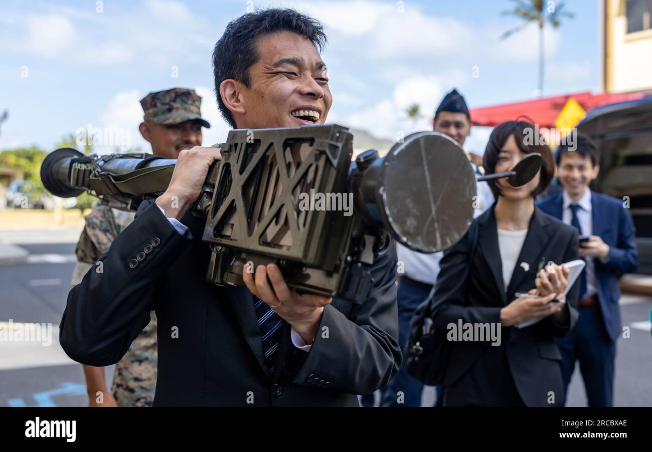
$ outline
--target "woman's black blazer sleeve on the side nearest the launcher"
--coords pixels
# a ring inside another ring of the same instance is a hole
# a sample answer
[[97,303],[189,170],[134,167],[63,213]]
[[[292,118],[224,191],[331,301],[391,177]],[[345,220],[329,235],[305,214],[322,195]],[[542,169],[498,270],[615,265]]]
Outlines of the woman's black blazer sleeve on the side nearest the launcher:
[[[431,304],[434,306],[435,330],[447,332],[447,326],[462,319],[464,323],[500,323],[501,307],[466,306],[468,275],[472,271],[471,256],[468,255],[469,233],[444,252],[439,262],[441,270],[437,277],[436,290]],[[486,341],[490,344],[490,341]]]

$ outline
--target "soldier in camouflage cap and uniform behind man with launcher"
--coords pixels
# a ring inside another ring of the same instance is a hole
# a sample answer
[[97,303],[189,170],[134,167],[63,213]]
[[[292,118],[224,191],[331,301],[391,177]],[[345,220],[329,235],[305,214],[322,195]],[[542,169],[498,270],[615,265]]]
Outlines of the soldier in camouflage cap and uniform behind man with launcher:
[[[145,113],[145,121],[173,126],[195,120],[203,127],[211,126],[207,120],[201,118],[201,97],[194,90],[173,88],[150,92],[141,99],[140,104]],[[72,285],[80,283],[91,268],[95,267],[95,271],[98,271],[95,262],[108,253],[113,240],[133,219],[134,212],[110,208],[101,201],[93,207],[91,213],[85,217],[85,227],[76,247],[78,264],[74,270]],[[152,406],[154,402],[158,355],[156,315],[151,312],[150,316],[149,324],[134,339],[125,356],[115,366],[111,393],[118,406]]]

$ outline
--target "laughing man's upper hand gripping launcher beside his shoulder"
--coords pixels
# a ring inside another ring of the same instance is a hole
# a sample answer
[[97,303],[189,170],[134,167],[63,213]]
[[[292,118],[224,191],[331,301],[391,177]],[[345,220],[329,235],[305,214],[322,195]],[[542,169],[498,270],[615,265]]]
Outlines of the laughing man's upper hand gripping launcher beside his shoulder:
[[197,201],[208,168],[215,160],[222,160],[220,148],[195,146],[179,152],[168,190],[156,199],[166,218],[181,219]]

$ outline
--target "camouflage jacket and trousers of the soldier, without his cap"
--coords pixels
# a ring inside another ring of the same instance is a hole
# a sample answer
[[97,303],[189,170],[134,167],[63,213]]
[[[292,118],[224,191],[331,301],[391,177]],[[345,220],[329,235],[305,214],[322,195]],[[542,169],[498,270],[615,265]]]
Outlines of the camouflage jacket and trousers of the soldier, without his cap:
[[[85,227],[76,247],[79,261],[72,284],[82,281],[83,275],[95,266],[97,259],[109,251],[117,234],[134,220],[134,212],[124,212],[98,202],[85,217]],[[158,354],[156,347],[156,315],[134,339],[122,360],[115,366],[111,393],[118,406],[152,406],[156,390]]]

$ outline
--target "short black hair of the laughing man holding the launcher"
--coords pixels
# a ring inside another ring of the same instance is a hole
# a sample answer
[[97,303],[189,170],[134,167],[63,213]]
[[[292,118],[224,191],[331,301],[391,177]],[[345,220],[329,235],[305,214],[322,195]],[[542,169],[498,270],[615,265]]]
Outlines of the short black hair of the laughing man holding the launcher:
[[249,12],[230,21],[213,49],[213,79],[222,117],[235,128],[235,120],[220,96],[220,84],[234,79],[249,87],[249,68],[259,59],[256,38],[276,31],[290,31],[312,42],[321,53],[326,34],[321,23],[289,8],[269,8]]

